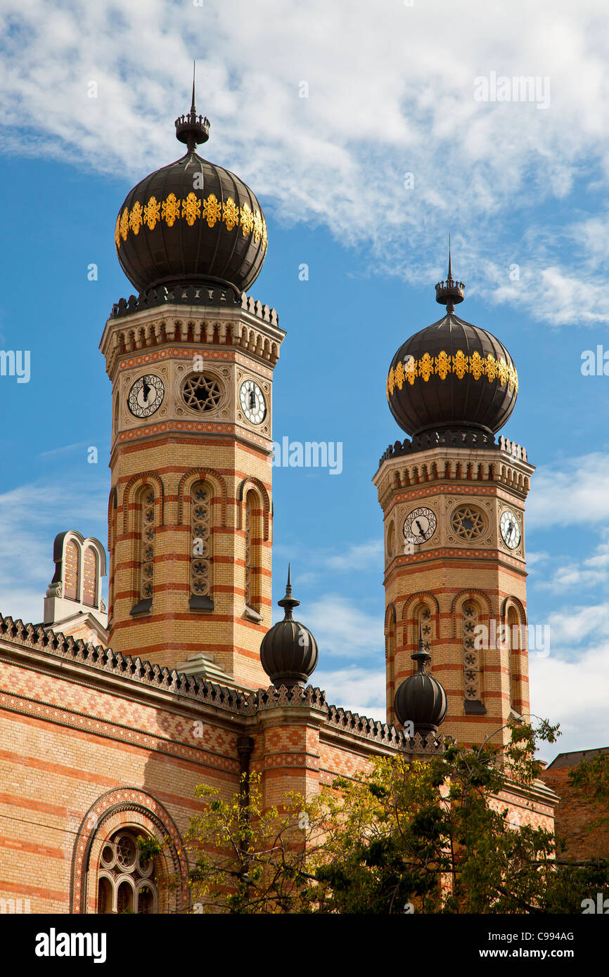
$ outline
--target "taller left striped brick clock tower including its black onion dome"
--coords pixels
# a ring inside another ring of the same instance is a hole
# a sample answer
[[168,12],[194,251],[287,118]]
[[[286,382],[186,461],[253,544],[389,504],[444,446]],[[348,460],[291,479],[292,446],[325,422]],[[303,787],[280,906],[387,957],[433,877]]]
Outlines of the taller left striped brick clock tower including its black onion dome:
[[116,219],[139,295],[114,305],[101,350],[112,385],[109,645],[214,681],[268,684],[272,388],[283,331],[248,298],[264,214],[235,174],[196,152],[209,121],[176,120],[180,159]]

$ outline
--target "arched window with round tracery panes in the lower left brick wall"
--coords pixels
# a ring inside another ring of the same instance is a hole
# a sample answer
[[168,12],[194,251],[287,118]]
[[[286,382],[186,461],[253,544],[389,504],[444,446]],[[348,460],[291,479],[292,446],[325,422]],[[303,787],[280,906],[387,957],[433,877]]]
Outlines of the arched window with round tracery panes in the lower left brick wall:
[[105,843],[100,861],[98,913],[158,912],[158,881],[151,858],[143,858],[137,834],[120,829]]

